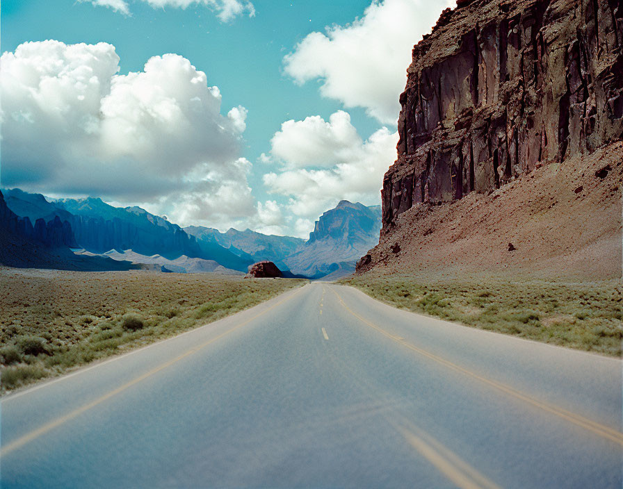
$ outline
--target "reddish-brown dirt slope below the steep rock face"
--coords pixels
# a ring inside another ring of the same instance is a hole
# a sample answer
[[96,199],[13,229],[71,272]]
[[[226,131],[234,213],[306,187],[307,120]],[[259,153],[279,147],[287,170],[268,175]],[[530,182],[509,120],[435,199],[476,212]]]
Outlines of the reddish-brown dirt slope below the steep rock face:
[[416,204],[357,272],[621,278],[622,182],[623,142],[615,142],[539,167],[488,195]]

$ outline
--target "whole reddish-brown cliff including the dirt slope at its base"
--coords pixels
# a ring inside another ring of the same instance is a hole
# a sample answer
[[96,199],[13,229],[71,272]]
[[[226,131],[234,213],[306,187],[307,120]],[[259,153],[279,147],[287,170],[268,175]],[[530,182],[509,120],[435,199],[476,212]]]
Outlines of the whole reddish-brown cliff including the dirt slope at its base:
[[623,2],[460,0],[416,44],[357,273],[620,279]]

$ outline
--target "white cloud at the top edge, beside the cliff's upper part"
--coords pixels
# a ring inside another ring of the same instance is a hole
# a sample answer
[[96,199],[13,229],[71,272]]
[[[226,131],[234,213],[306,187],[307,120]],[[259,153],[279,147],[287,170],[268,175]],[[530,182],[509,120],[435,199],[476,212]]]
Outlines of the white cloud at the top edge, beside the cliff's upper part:
[[348,108],[363,107],[394,124],[411,50],[455,0],[374,0],[361,19],[307,35],[284,58],[298,83],[321,78],[321,94]]

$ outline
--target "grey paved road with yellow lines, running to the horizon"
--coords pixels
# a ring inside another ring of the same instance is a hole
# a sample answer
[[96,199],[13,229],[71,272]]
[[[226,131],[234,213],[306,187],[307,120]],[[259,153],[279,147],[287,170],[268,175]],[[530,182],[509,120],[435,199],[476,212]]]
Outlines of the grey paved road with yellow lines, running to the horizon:
[[313,283],[1,401],[2,488],[621,488],[622,362]]

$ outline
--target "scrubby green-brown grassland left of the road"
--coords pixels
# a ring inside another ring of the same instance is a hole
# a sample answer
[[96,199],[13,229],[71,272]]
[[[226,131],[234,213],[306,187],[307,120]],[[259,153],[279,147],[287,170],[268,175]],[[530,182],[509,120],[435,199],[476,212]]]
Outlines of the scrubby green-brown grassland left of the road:
[[0,392],[177,335],[304,283],[0,269]]

